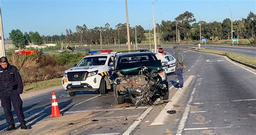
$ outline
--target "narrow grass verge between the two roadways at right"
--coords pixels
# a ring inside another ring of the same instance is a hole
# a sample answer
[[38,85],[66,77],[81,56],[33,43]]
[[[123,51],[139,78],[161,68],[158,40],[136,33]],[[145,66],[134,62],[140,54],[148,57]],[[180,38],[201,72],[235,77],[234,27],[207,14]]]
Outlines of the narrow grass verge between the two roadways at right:
[[249,65],[256,66],[256,58],[250,57],[250,56],[245,56],[245,55],[240,55],[240,54],[235,54],[235,53],[227,53],[223,51],[217,51],[213,49],[198,49],[198,52],[203,52],[203,53],[213,53],[213,54],[219,54],[219,55],[225,55],[229,56],[230,58],[241,61],[244,63],[247,63]]

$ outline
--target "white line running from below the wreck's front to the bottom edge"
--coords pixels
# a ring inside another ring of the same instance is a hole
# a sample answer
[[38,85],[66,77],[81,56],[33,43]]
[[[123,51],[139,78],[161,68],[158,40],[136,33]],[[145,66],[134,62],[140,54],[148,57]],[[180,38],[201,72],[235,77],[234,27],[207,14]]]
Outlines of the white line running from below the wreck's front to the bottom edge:
[[136,119],[136,121],[132,123],[130,127],[128,127],[128,129],[123,133],[123,135],[129,135],[135,129],[135,127],[146,117],[147,113],[149,113],[152,109],[153,109],[153,106],[149,106],[149,108],[147,108],[147,110],[144,111],[142,115],[140,115]]

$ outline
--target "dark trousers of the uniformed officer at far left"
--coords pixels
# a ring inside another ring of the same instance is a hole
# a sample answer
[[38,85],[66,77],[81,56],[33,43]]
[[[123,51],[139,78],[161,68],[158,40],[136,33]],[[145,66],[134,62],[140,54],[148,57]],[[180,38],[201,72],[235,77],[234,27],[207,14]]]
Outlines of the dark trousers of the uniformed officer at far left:
[[14,107],[14,111],[16,113],[16,116],[19,119],[19,122],[21,124],[26,124],[24,113],[22,110],[22,100],[19,96],[19,93],[17,90],[13,90],[11,93],[8,93],[6,90],[0,90],[0,97],[1,97],[1,105],[4,109],[4,115],[6,122],[9,124],[15,124],[14,123],[14,116],[12,116],[11,113],[11,104]]

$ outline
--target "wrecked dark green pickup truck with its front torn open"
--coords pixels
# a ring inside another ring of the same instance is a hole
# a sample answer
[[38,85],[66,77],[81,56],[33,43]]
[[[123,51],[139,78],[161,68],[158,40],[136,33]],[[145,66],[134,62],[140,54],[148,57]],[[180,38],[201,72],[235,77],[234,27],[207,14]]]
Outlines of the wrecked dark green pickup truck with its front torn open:
[[[128,53],[127,53],[128,52]],[[123,104],[125,97],[130,97],[134,105],[153,103],[156,97],[168,100],[169,87],[167,75],[156,55],[148,50],[123,51],[114,55],[113,72],[114,97],[117,104]]]

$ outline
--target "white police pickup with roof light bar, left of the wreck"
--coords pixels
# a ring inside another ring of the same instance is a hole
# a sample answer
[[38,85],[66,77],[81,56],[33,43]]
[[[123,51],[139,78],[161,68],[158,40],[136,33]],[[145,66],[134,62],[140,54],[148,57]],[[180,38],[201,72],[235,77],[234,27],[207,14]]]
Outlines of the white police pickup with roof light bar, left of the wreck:
[[75,96],[75,91],[99,90],[101,95],[111,89],[109,66],[113,65],[112,50],[90,51],[75,67],[65,70],[62,86]]

